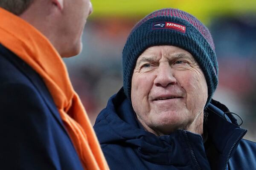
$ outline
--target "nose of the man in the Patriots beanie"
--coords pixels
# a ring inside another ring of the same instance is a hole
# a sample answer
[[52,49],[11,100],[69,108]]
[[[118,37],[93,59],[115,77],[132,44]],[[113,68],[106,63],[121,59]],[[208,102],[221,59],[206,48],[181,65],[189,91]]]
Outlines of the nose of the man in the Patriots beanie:
[[167,87],[177,83],[173,75],[173,70],[169,64],[159,65],[157,68],[157,77],[154,79],[154,85]]

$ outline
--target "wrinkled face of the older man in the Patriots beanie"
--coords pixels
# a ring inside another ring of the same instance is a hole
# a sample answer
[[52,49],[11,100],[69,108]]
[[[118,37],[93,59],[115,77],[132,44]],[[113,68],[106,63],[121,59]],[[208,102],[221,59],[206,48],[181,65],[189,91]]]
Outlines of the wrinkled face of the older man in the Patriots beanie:
[[207,97],[204,74],[188,51],[153,46],[137,59],[131,102],[146,130],[157,135],[177,129],[201,133]]

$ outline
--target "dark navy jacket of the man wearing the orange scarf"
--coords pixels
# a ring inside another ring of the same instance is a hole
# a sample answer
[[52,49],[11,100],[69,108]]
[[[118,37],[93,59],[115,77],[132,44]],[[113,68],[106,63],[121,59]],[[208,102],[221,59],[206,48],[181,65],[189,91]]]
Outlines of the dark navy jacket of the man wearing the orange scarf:
[[3,45],[0,170],[83,170],[44,81]]

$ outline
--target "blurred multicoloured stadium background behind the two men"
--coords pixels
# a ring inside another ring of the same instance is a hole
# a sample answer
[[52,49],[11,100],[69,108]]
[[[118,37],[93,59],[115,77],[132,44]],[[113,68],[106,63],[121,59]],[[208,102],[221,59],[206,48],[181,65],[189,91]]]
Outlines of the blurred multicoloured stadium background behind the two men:
[[[134,24],[160,8],[179,8],[211,31],[219,63],[213,99],[239,114],[256,142],[256,0],[91,0],[83,51],[64,59],[92,124],[122,87],[122,48]],[[76,20],[76,18],[74,18]]]

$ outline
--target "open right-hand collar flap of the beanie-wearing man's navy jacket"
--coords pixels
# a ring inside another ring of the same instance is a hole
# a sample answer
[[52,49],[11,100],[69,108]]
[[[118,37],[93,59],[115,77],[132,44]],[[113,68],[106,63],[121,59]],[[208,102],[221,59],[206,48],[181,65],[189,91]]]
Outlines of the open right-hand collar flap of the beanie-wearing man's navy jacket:
[[205,128],[212,147],[218,152],[215,161],[218,162],[218,169],[224,169],[247,130],[239,127],[232,115],[229,117],[224,115],[229,110],[220,102],[212,100],[205,111],[208,113]]

